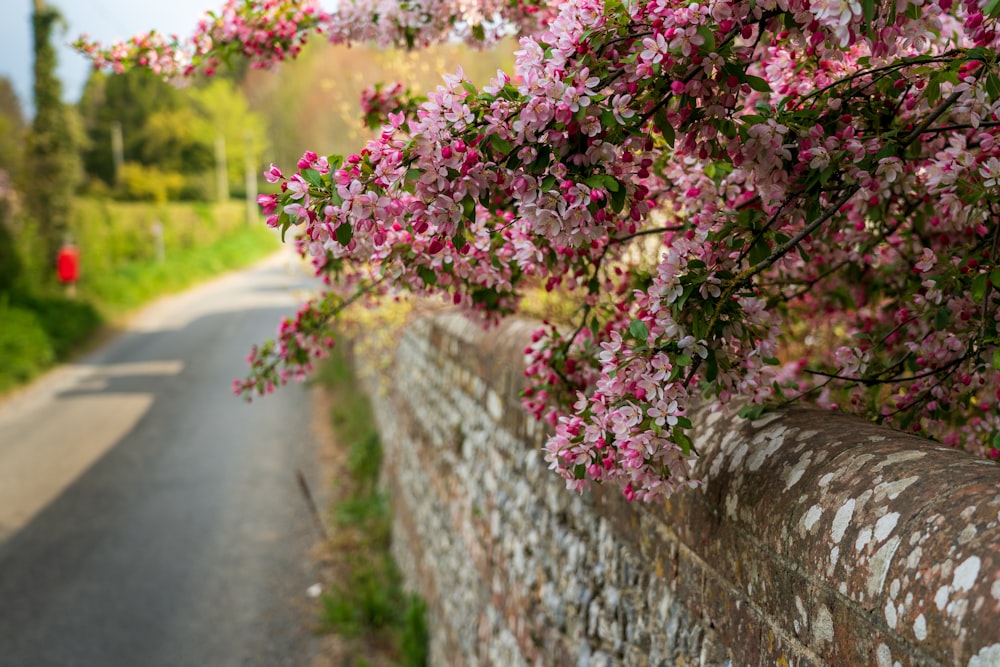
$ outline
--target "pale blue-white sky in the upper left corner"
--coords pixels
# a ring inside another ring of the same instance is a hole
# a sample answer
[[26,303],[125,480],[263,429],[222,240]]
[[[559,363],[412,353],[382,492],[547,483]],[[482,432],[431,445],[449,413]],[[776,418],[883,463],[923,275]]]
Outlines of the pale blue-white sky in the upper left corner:
[[[56,36],[60,46],[59,78],[67,102],[80,99],[90,74],[87,60],[69,44],[81,33],[108,42],[127,39],[155,28],[165,34],[190,36],[198,19],[217,10],[224,0],[45,0],[66,19],[67,29]],[[0,0],[0,76],[14,83],[26,115],[31,109],[31,11],[34,0]]]

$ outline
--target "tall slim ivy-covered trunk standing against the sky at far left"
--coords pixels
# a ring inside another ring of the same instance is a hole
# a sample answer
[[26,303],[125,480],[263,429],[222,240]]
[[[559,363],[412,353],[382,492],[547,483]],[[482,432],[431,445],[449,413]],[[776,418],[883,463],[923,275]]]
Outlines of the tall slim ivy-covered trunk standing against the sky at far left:
[[35,118],[28,132],[21,177],[24,201],[46,254],[54,261],[69,224],[70,200],[79,177],[75,131],[62,101],[56,77],[52,31],[59,12],[35,0],[31,23],[34,35]]

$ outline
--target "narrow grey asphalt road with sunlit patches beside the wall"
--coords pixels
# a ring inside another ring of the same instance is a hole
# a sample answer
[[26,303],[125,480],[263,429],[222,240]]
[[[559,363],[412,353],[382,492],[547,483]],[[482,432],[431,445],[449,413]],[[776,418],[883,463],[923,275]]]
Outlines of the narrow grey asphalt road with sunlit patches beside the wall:
[[305,286],[283,258],[168,298],[0,404],[0,666],[309,664],[312,402],[230,391]]

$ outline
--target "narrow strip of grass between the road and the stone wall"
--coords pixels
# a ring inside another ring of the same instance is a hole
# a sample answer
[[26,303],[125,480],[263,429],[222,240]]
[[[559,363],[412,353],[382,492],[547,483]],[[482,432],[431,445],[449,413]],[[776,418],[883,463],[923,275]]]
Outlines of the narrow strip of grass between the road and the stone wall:
[[425,667],[426,606],[403,590],[389,552],[392,517],[378,484],[382,444],[371,406],[357,389],[342,347],[334,349],[314,381],[330,399],[334,440],[344,461],[330,519],[333,583],[320,598],[320,629],[344,640],[348,665]]

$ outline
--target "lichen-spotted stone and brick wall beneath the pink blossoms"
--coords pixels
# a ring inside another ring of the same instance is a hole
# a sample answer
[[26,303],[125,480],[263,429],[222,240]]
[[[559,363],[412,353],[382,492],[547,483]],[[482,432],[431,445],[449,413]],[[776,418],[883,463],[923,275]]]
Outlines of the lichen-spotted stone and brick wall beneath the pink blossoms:
[[705,413],[702,489],[579,496],[519,405],[531,329],[426,317],[372,392],[432,665],[1000,666],[1000,466],[806,408]]

